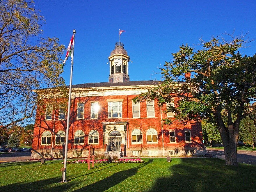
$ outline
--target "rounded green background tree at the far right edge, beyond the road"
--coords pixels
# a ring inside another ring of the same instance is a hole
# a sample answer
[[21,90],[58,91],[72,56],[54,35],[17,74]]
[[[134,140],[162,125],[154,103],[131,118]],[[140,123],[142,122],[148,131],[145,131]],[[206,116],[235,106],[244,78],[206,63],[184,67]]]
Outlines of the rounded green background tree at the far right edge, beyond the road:
[[254,121],[246,117],[241,120],[239,128],[239,137],[241,137],[244,142],[252,145],[254,149],[253,144],[256,143],[256,127]]

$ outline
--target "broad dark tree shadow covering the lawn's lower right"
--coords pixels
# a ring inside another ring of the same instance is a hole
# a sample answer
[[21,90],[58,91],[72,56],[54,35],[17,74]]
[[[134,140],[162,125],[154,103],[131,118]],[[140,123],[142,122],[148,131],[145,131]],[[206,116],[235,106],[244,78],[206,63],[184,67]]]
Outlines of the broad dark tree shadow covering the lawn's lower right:
[[256,166],[227,166],[218,158],[181,161],[170,166],[170,176],[158,178],[149,191],[256,191]]

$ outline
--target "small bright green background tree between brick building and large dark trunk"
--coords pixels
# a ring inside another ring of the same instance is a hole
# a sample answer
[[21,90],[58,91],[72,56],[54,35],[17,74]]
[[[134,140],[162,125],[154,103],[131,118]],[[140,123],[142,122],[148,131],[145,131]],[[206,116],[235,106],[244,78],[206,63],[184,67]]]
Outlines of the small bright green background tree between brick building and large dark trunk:
[[206,133],[207,141],[215,141],[217,143],[222,143],[220,133],[218,132],[217,126],[213,123],[207,122],[206,120],[202,121],[202,132]]

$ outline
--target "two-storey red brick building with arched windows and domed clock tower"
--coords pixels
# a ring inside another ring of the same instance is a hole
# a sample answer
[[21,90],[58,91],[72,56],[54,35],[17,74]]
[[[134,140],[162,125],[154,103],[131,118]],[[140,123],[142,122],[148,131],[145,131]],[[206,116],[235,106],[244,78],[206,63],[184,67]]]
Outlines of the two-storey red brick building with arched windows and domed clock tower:
[[[72,106],[68,133],[68,157],[85,157],[92,145],[96,155],[179,156],[203,154],[200,122],[164,125],[157,101],[134,104],[132,99],[157,86],[155,81],[129,81],[130,61],[123,44],[111,51],[109,82],[72,85]],[[46,114],[37,110],[32,158],[63,157],[67,114],[46,105]]]

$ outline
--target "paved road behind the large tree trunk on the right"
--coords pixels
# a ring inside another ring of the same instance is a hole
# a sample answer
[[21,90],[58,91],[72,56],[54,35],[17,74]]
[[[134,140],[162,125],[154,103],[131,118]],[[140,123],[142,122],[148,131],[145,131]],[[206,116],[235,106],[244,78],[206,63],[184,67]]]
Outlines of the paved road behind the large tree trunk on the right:
[[[209,149],[209,154],[212,155],[212,157],[217,157],[225,160],[223,150]],[[237,162],[256,165],[256,151],[237,151]]]

